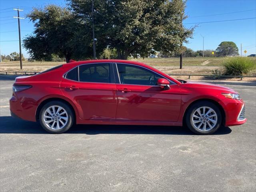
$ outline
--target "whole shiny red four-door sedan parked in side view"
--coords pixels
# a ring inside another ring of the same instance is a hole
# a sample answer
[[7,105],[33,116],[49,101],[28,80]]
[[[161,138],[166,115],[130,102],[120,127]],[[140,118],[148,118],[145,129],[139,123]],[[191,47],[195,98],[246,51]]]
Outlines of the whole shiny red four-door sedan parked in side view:
[[244,124],[244,102],[230,88],[176,80],[140,62],[90,60],[17,77],[12,116],[51,133],[73,124],[182,126],[212,134]]

